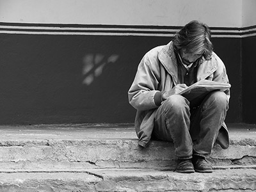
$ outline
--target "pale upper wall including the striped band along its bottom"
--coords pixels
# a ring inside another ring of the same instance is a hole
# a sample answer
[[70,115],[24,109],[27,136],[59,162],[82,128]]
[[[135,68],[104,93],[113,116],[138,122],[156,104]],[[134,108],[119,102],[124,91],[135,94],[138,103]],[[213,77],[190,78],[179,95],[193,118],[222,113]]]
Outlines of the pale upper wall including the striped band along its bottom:
[[212,36],[246,37],[255,9],[256,0],[0,0],[0,33],[173,36],[201,20]]

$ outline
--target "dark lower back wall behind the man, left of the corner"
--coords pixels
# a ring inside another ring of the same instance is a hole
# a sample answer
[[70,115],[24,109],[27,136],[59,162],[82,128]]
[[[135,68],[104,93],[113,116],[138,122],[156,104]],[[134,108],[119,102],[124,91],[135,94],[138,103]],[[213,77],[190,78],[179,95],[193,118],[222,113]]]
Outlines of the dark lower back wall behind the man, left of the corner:
[[[127,91],[138,63],[170,40],[1,34],[0,124],[132,123]],[[227,122],[241,122],[241,40],[212,42],[232,84]]]

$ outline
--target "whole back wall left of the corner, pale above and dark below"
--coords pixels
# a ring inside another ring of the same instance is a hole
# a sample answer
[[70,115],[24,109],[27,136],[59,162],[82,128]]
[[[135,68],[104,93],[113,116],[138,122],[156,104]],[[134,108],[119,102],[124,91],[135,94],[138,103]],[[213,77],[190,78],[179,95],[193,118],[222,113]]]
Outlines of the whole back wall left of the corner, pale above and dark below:
[[143,54],[192,19],[211,27],[227,67],[227,122],[243,122],[242,1],[188,2],[0,0],[0,124],[133,122]]

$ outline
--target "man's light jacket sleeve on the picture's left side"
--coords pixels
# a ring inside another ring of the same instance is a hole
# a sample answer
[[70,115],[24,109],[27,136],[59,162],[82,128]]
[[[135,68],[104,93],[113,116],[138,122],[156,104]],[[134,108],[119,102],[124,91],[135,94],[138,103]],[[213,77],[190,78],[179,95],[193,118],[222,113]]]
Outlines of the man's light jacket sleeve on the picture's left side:
[[[134,81],[128,91],[129,103],[137,110],[145,111],[159,106],[161,93],[157,90],[157,57],[149,57],[147,54],[141,60]],[[159,74],[159,72],[158,72]],[[161,102],[160,102],[161,104]]]

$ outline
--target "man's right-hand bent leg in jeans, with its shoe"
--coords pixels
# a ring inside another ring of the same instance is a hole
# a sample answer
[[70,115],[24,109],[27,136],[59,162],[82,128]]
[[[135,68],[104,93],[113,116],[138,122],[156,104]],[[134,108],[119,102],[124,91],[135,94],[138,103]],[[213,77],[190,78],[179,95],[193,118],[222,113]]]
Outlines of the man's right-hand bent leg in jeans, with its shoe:
[[[191,109],[190,134],[194,143],[194,166],[199,172],[211,172],[211,166],[207,165],[204,158],[212,152],[227,110],[227,95],[220,91],[209,93],[198,109]],[[196,163],[198,159],[200,162]]]

